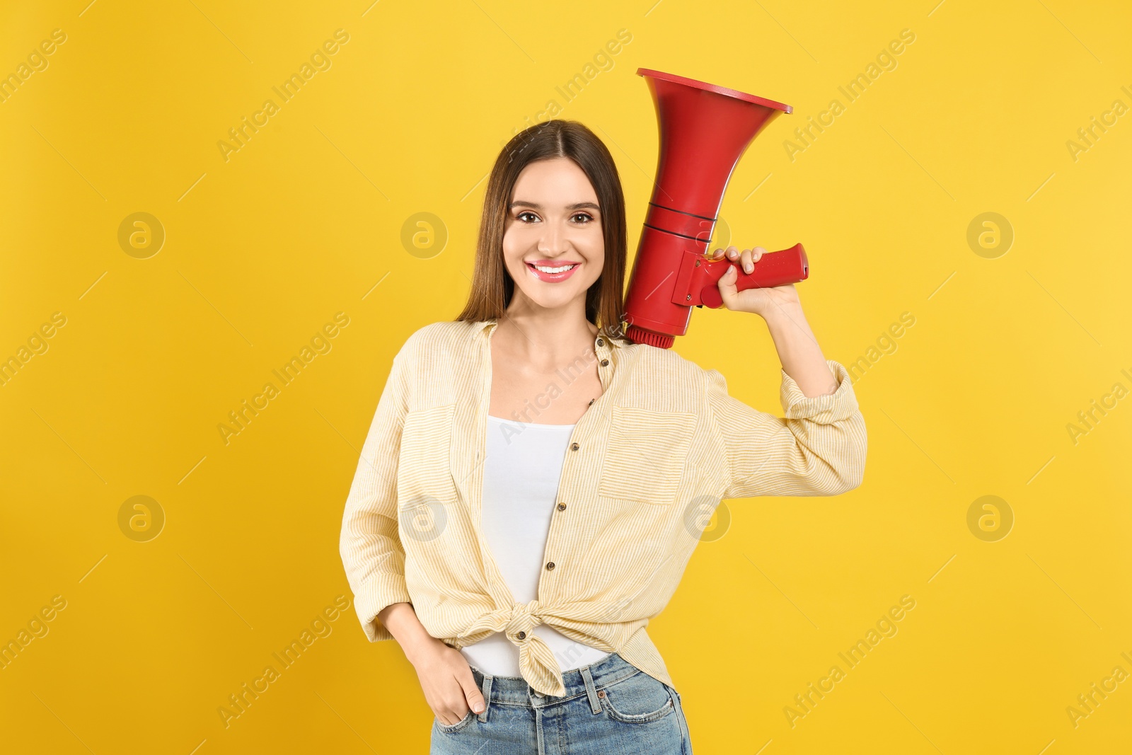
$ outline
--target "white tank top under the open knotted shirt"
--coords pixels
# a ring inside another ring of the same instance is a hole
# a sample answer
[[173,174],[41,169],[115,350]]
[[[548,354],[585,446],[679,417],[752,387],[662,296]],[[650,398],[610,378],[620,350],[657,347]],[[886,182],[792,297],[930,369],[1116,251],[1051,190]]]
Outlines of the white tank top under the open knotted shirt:
[[[550,518],[573,424],[534,424],[488,415],[483,461],[483,538],[504,582],[520,603],[538,598]],[[540,624],[538,635],[563,671],[609,653],[569,640]],[[517,677],[518,647],[503,633],[462,647],[464,659],[488,676]]]

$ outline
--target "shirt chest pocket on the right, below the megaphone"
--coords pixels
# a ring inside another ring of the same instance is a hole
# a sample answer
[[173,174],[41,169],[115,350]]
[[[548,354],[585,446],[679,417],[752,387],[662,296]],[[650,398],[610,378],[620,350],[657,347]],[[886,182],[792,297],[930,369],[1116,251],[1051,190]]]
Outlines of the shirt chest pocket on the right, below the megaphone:
[[615,406],[598,495],[667,505],[676,500],[696,415]]

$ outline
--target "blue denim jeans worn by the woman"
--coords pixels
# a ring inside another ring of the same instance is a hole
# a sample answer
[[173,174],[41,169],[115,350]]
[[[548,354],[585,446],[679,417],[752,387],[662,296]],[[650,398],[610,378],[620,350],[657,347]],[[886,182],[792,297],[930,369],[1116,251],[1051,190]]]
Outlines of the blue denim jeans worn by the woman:
[[434,719],[430,755],[692,755],[679,693],[617,653],[564,671],[561,697],[471,668],[487,707]]

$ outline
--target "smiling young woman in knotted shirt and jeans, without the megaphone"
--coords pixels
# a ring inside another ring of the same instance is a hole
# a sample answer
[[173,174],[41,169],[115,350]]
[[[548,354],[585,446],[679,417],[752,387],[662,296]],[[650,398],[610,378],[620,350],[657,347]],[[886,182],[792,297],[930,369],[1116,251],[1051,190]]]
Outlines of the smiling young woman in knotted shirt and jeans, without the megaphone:
[[[751,272],[764,251],[712,257]],[[625,261],[604,145],[574,121],[529,128],[491,172],[464,310],[394,358],[341,550],[367,636],[396,638],[417,670],[435,754],[689,755],[645,625],[707,516],[721,498],[863,479],[849,376],[792,285],[719,281],[728,309],[770,328],[783,419],[625,338]]]

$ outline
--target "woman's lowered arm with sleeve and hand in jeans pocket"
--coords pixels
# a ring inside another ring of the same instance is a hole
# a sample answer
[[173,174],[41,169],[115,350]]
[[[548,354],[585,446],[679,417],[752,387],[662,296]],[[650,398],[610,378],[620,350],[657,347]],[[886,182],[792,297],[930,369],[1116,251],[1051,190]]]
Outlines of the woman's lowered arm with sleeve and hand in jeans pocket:
[[[397,463],[408,413],[410,341],[393,367],[362,446],[342,517],[340,552],[354,608],[370,642],[395,638],[417,669],[437,719],[456,723],[480,712],[483,695],[460,651],[430,636],[405,585],[405,551],[397,529]],[[411,364],[410,364],[411,366]]]

